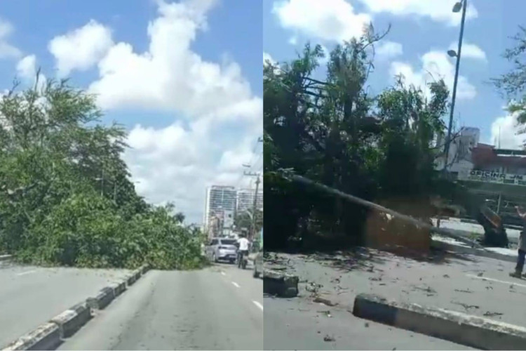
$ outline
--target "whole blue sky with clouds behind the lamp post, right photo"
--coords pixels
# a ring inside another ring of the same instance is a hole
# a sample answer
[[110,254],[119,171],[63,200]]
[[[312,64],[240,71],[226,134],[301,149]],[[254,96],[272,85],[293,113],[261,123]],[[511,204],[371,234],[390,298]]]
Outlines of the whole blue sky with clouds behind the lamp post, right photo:
[[[372,21],[379,31],[391,24],[384,39],[391,44],[377,52],[376,70],[370,79],[375,92],[392,84],[393,72],[404,72],[407,81],[422,85],[429,74],[444,77],[452,89],[454,59],[445,55],[459,37],[460,13],[452,13],[455,0],[268,0],[263,6],[263,49],[273,60],[295,57],[306,41],[330,50],[344,38],[359,35],[360,21]],[[513,45],[509,37],[526,25],[526,1],[468,1],[456,126],[480,128],[483,143],[518,147],[512,116],[503,110],[506,100],[487,82],[510,68],[501,57]],[[379,44],[377,48],[382,47]],[[428,79],[428,80],[426,80]]]

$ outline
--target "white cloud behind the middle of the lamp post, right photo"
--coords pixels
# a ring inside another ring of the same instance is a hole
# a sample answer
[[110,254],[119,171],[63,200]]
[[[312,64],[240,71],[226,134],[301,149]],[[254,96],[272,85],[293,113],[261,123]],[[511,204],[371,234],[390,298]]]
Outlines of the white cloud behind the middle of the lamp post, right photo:
[[[430,95],[426,84],[438,79],[444,79],[446,86],[452,91],[454,81],[454,65],[451,58],[443,51],[429,51],[420,58],[421,65],[414,68],[405,62],[392,62],[390,74],[403,74],[407,84],[420,86],[427,96]],[[469,100],[475,98],[477,91],[464,76],[459,75],[457,98]]]

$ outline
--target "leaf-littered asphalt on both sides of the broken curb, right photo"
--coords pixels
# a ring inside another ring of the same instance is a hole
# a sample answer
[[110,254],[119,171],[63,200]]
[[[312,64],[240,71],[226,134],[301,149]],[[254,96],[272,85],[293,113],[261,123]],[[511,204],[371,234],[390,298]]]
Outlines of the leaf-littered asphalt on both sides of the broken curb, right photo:
[[[407,303],[526,326],[524,309],[520,307],[526,297],[526,279],[508,276],[513,263],[471,255],[412,260],[374,250],[364,250],[360,256],[340,253],[276,258],[276,264],[297,274],[303,282],[297,298],[264,298],[267,350],[466,349],[354,317],[348,310],[352,310],[358,293],[377,293]],[[337,305],[313,303],[313,290]],[[326,336],[329,341],[324,340]]]

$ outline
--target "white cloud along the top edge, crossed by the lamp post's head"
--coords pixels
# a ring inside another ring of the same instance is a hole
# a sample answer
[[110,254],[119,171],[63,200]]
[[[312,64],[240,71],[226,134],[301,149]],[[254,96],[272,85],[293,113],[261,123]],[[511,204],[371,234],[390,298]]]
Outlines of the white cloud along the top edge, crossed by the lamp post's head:
[[[398,16],[428,17],[447,25],[459,25],[461,13],[453,13],[453,5],[458,0],[360,0],[372,13],[391,13]],[[478,11],[470,2],[466,9],[466,19],[477,18]]]

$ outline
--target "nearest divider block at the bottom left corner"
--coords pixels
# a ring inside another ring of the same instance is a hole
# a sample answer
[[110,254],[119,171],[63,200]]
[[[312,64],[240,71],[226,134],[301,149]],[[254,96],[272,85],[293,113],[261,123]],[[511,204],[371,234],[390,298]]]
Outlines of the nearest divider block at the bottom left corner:
[[21,336],[2,350],[54,350],[60,343],[58,325],[48,322]]

